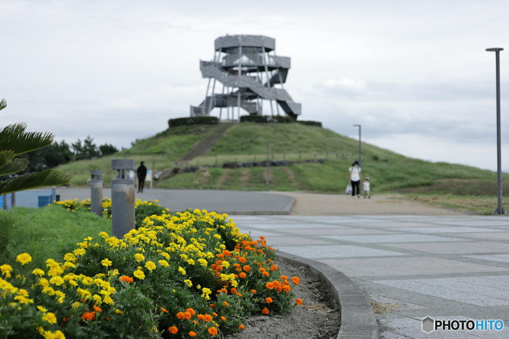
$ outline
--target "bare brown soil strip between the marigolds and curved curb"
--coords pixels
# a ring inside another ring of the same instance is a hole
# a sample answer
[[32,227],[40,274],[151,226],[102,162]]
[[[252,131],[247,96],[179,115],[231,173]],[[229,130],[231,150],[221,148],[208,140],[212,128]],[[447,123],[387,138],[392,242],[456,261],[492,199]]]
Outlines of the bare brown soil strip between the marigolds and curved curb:
[[295,306],[286,316],[248,318],[246,329],[225,338],[335,338],[340,330],[341,314],[328,290],[306,267],[293,267],[283,262],[276,262],[276,265],[281,274],[300,278],[301,283],[292,290],[303,304]]

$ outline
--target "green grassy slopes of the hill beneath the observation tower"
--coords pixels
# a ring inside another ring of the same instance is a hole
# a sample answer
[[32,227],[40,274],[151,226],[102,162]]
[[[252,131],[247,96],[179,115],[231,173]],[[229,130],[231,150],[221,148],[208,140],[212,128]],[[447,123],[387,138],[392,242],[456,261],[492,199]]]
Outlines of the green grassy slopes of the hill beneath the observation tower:
[[[79,161],[60,169],[75,174],[72,186],[85,186],[91,169],[103,169],[105,184],[115,176],[109,161],[130,158],[145,161],[156,169],[174,167],[194,143],[216,129],[214,125],[194,125],[168,129],[151,138],[136,140],[133,147],[117,155]],[[271,168],[272,190],[299,190],[341,193],[348,183],[348,167],[357,159],[358,141],[330,130],[299,124],[242,123],[231,127],[204,157],[191,165],[212,165],[231,161],[266,159],[267,142],[272,160],[327,159],[324,164],[305,163]],[[412,159],[371,145],[362,144],[363,176],[370,176],[372,192],[419,194],[495,195],[496,174],[475,167],[432,163]],[[504,174],[504,179],[509,178]],[[178,174],[156,183],[172,189],[264,190],[266,168],[202,168]],[[504,189],[509,189],[509,186]]]

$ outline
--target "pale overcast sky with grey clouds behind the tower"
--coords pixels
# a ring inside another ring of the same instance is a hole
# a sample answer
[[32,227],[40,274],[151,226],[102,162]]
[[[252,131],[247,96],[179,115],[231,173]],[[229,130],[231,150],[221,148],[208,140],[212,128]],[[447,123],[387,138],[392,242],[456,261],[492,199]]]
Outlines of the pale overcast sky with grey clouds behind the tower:
[[[205,96],[225,34],[276,39],[302,120],[431,161],[509,168],[509,2],[0,0],[0,127],[129,147]],[[265,114],[267,114],[267,109]],[[218,109],[212,112],[217,115]]]

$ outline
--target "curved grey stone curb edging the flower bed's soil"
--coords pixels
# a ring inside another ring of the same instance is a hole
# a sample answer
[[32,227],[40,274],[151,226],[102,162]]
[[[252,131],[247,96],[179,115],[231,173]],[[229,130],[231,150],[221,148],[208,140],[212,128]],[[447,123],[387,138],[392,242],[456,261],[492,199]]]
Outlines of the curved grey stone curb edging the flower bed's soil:
[[277,251],[278,260],[305,266],[327,286],[341,310],[337,339],[380,339],[375,313],[367,296],[348,276],[321,262]]

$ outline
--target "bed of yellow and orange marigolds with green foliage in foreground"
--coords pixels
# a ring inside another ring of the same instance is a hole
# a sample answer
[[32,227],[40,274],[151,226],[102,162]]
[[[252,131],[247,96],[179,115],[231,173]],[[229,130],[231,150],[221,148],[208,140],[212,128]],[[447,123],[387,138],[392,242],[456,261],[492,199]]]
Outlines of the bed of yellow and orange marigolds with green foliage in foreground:
[[0,266],[0,335],[210,338],[301,302],[263,237],[225,214],[151,215],[123,239],[101,232],[78,246],[46,267],[26,253]]

